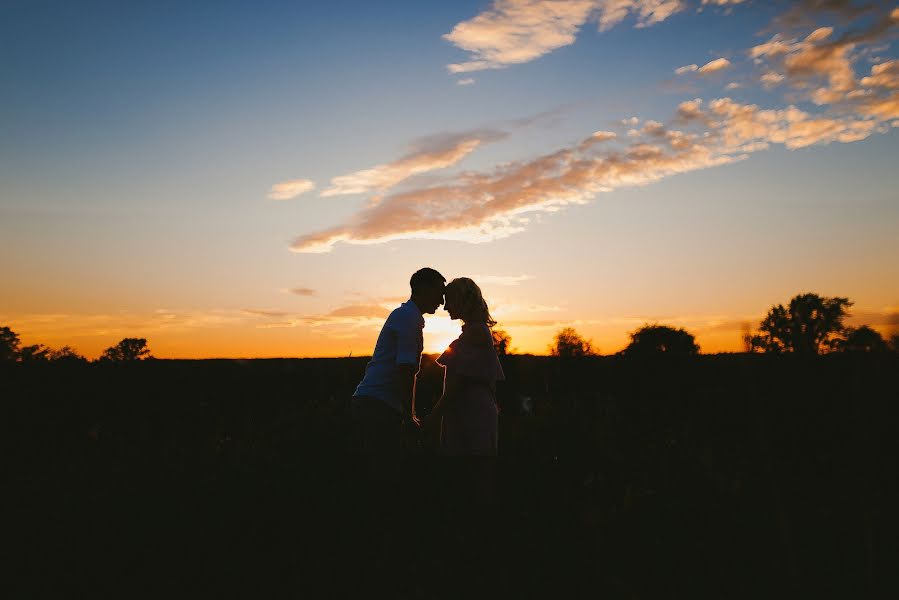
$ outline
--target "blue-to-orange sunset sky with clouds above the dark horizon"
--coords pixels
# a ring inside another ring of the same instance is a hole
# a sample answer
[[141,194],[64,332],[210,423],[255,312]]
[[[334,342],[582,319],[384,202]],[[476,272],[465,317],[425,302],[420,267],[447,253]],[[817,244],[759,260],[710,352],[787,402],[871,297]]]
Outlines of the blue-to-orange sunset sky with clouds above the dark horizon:
[[[0,325],[369,355],[430,266],[518,352],[899,323],[899,4],[0,0]],[[426,315],[425,350],[458,335]]]

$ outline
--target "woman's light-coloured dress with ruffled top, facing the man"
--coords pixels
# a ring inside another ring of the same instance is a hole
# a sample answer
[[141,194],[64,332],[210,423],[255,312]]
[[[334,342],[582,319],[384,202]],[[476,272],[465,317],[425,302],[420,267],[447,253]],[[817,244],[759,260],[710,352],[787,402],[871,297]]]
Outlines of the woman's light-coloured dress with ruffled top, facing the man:
[[458,393],[447,398],[440,423],[440,450],[446,456],[496,456],[496,382],[505,379],[485,323],[466,323],[462,335],[437,363],[447,377],[460,381]]

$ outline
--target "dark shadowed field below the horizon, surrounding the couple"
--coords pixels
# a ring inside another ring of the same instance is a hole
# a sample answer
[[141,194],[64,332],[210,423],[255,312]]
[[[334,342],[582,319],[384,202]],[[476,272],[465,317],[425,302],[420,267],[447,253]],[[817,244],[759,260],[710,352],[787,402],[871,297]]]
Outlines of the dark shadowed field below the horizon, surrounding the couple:
[[[4,596],[373,597],[372,563],[418,597],[899,585],[895,354],[504,357],[495,502],[450,562],[429,440],[408,546],[360,551],[347,403],[366,360],[3,367]],[[423,364],[427,405],[442,372]]]

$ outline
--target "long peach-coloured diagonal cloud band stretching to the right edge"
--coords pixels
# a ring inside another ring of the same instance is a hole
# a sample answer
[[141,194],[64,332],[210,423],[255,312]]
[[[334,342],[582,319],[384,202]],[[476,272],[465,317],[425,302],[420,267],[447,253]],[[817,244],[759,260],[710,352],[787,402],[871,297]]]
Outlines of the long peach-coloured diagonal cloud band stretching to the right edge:
[[[291,249],[329,252],[340,242],[401,239],[497,240],[524,231],[530,213],[555,212],[603,192],[733,163],[772,144],[793,150],[862,140],[887,127],[885,121],[899,119],[897,109],[899,102],[891,97],[865,99],[852,114],[815,114],[792,105],[764,109],[726,97],[704,108],[701,99],[688,100],[677,107],[668,126],[647,120],[632,130],[633,139],[623,147],[591,143],[591,135],[532,160],[395,193],[346,224],[298,238]],[[672,128],[675,124],[685,129]]]

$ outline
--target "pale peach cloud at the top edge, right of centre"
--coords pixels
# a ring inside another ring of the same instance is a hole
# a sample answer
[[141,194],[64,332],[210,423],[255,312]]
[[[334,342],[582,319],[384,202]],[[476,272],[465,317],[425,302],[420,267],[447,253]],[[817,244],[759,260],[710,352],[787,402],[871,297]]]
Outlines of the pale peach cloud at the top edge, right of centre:
[[527,63],[573,44],[588,20],[606,31],[633,14],[635,27],[648,27],[684,7],[682,0],[494,0],[443,36],[469,53],[469,60],[447,69],[469,73]]

